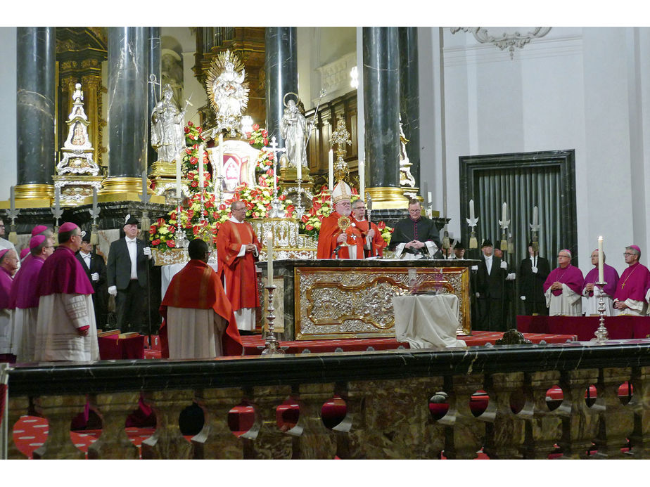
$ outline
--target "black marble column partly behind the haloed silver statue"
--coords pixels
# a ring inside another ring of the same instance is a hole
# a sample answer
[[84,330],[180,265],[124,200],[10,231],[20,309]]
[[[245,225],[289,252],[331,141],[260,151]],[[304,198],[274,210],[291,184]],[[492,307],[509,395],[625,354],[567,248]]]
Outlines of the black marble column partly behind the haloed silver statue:
[[267,27],[265,30],[265,74],[267,95],[267,131],[269,140],[280,136],[280,119],[284,112],[283,97],[298,93],[298,48],[295,27]]

